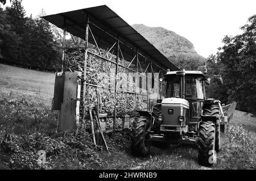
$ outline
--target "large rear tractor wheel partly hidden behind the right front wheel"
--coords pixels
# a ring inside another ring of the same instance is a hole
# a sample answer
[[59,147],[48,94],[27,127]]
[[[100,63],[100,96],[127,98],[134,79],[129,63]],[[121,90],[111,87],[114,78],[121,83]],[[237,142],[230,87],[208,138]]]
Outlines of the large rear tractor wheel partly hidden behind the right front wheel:
[[216,117],[216,136],[215,136],[215,150],[220,151],[220,107],[216,104],[207,105],[204,107],[203,115],[215,116]]

